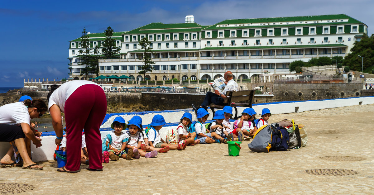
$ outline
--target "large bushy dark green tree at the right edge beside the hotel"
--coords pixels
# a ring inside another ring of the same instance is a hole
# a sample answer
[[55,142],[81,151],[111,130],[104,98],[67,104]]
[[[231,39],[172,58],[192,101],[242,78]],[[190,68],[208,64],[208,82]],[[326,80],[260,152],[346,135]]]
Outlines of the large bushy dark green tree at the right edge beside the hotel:
[[[364,57],[362,59],[359,57]],[[374,34],[370,37],[364,34],[361,41],[355,41],[353,47],[350,49],[350,53],[344,58],[343,65],[348,66],[354,71],[361,72],[361,65],[363,69],[369,68],[374,61]]]

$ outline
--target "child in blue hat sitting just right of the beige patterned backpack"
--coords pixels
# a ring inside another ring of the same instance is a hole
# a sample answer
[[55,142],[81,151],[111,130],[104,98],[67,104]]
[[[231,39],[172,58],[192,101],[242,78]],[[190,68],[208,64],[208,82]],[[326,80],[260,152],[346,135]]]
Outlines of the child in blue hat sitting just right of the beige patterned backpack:
[[188,132],[188,127],[192,121],[192,114],[189,112],[184,112],[180,123],[177,127],[177,133],[178,133],[178,144],[182,144],[183,149],[186,149],[187,145],[192,144],[199,144],[200,140],[195,140],[196,132]]

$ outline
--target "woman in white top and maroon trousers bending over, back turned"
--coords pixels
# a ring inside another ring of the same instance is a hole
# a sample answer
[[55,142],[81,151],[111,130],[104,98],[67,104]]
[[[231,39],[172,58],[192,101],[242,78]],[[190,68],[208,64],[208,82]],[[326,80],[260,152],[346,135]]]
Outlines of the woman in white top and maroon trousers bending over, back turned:
[[48,108],[56,132],[56,145],[62,140],[61,112],[65,113],[67,163],[58,171],[77,173],[80,171],[82,132],[88,149],[90,171],[102,171],[102,148],[100,125],[107,112],[107,99],[102,88],[91,81],[74,80],[60,87],[52,85],[48,93]]

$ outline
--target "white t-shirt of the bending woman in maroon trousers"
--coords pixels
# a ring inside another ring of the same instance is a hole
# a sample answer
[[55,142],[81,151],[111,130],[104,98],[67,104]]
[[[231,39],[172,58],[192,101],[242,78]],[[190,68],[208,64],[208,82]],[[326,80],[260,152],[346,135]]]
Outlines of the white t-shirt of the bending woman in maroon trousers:
[[86,85],[86,84],[94,84],[98,85],[96,83],[93,83],[92,81],[86,81],[86,80],[74,80],[74,81],[68,81],[64,84],[62,84],[60,87],[58,87],[52,95],[49,97],[48,101],[48,111],[50,106],[53,104],[58,105],[61,112],[65,112],[65,102],[70,97],[71,94],[75,92],[80,86]]

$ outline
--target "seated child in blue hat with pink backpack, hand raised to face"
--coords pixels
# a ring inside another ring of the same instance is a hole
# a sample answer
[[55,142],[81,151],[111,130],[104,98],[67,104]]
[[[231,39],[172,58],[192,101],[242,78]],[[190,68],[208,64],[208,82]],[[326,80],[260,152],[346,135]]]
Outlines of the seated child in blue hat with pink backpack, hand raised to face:
[[251,123],[252,111],[249,108],[246,108],[242,112],[242,117],[234,122],[234,129],[240,128],[245,135],[244,140],[251,139],[251,136],[254,135],[254,127]]

